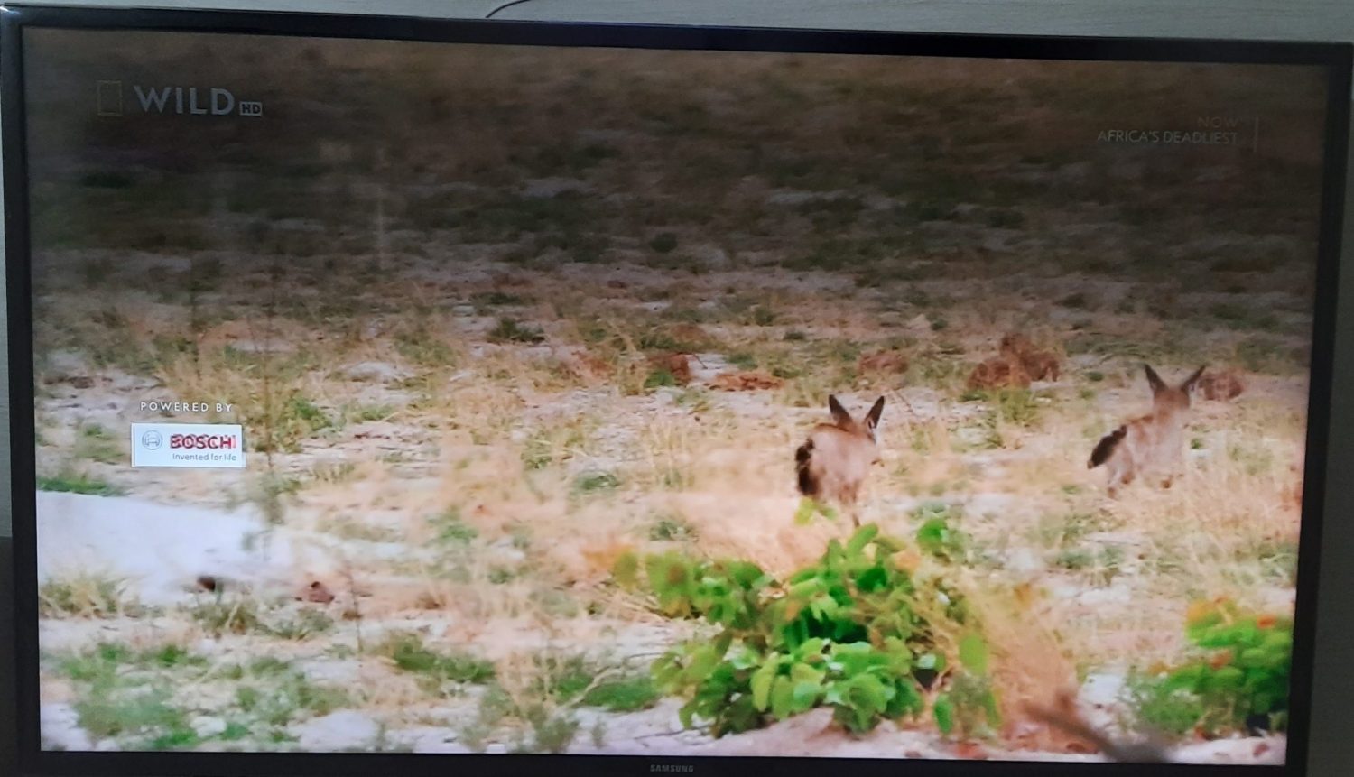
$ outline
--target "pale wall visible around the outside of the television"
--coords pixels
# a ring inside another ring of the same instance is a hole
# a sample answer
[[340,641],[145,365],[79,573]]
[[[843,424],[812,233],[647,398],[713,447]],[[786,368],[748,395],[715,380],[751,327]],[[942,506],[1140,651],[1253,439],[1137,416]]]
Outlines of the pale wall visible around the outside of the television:
[[[49,5],[326,11],[424,18],[479,18],[506,0],[51,0]],[[19,4],[19,3],[15,3]],[[654,22],[1044,35],[1162,35],[1354,41],[1354,0],[528,0],[501,19]],[[1351,154],[1354,156],[1354,154]],[[1351,187],[1354,188],[1354,187]],[[1322,604],[1313,697],[1313,777],[1354,774],[1354,192],[1336,338],[1336,406],[1331,425],[1332,487],[1322,552]],[[0,275],[3,283],[3,275]],[[3,295],[0,295],[3,305]],[[0,332],[3,338],[3,332]],[[0,363],[0,370],[4,365]],[[0,379],[3,382],[3,379]],[[1343,388],[1343,390],[1342,390]],[[0,394],[0,429],[8,398]],[[0,440],[0,472],[8,464]],[[9,533],[0,506],[0,536]]]

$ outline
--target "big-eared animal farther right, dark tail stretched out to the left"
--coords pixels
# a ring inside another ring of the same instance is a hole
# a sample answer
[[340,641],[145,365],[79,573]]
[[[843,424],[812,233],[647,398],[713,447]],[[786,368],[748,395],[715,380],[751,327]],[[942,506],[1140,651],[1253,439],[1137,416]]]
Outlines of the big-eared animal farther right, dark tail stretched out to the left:
[[1140,478],[1155,478],[1170,487],[1179,474],[1185,456],[1185,424],[1189,421],[1190,397],[1204,375],[1200,367],[1179,386],[1167,386],[1151,365],[1144,364],[1152,388],[1152,412],[1133,418],[1101,437],[1086,467],[1101,464],[1109,471],[1109,493]]

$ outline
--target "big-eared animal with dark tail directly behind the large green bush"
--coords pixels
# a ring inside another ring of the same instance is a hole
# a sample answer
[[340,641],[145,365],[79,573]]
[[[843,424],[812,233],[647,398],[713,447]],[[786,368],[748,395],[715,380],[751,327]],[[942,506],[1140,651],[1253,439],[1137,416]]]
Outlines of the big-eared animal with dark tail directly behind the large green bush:
[[848,413],[837,397],[827,398],[827,410],[833,422],[814,426],[795,451],[799,493],[845,508],[858,527],[860,490],[871,466],[879,462],[877,432],[884,398],[880,397],[860,420]]

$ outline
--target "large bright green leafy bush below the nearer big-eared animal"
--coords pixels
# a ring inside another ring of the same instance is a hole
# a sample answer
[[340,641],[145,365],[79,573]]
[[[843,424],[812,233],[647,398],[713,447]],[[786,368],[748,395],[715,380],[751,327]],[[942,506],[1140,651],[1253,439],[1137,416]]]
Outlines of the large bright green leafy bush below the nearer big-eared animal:
[[[964,597],[940,579],[914,578],[911,564],[896,560],[909,555],[903,548],[871,524],[785,581],[746,560],[666,552],[623,559],[617,582],[643,577],[663,615],[718,627],[651,667],[658,690],[688,698],[684,726],[709,722],[720,736],[830,707],[838,724],[864,732],[922,715],[932,689],[955,674],[956,657],[964,673],[987,677],[986,643]],[[986,693],[983,717],[997,711]],[[951,690],[934,709],[937,723],[968,720],[972,697]]]

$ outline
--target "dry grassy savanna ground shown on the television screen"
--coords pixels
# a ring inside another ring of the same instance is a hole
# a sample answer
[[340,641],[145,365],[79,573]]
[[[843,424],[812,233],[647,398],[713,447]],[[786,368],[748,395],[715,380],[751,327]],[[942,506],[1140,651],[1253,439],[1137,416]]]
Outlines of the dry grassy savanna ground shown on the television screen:
[[[194,76],[198,46],[112,54]],[[1186,654],[1192,602],[1290,612],[1316,165],[1278,118],[1320,106],[1301,81],[336,42],[217,57],[272,123],[188,143],[168,120],[34,111],[38,486],[77,495],[45,504],[199,521],[158,555],[144,532],[79,564],[50,529],[51,746],[972,755],[926,722],[853,738],[816,713],[716,740],[649,678],[700,627],[616,586],[616,559],[816,559],[846,529],[795,521],[793,451],[829,394],[856,413],[886,397],[861,518],[961,532],[922,563],[982,602],[1013,700],[1080,688],[1128,727],[1125,675]],[[322,80],[349,103],[320,102]],[[1093,143],[1185,120],[1182,93],[1273,119],[1274,143]],[[972,388],[1011,332],[1056,379]],[[1150,409],[1144,361],[1244,391],[1196,401],[1171,489],[1110,500],[1086,459]],[[233,403],[165,420],[244,424],[248,468],[131,470],[148,399]],[[268,569],[279,547],[280,574],[213,566],[244,548]],[[982,753],[1094,758],[1009,723]]]

